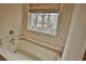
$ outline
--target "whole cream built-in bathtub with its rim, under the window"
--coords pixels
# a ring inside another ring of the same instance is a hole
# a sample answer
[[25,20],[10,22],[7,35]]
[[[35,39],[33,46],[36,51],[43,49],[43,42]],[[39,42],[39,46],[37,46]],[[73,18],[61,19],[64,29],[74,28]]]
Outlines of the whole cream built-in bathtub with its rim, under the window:
[[[60,61],[61,52],[56,51],[53,47],[46,48],[45,44],[39,44],[38,41],[26,39],[22,37],[16,41],[16,53],[11,52],[8,49],[9,42],[0,46],[0,54],[8,61]],[[37,43],[35,43],[37,42]]]

